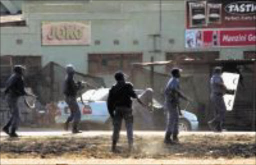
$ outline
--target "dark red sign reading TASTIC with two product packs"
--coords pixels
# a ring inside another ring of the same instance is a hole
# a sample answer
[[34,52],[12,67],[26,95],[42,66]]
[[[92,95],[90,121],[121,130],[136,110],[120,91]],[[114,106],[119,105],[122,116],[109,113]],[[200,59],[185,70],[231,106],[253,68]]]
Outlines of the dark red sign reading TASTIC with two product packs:
[[255,0],[187,0],[186,28],[256,26]]

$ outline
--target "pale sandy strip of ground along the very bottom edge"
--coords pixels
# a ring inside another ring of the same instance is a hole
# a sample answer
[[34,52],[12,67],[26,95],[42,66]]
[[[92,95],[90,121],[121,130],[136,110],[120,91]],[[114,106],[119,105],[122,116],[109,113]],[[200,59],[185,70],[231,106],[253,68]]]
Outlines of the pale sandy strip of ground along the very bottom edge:
[[255,164],[255,158],[218,158],[218,159],[191,159],[191,158],[173,158],[173,159],[134,159],[134,158],[119,158],[119,159],[1,159],[1,164]]

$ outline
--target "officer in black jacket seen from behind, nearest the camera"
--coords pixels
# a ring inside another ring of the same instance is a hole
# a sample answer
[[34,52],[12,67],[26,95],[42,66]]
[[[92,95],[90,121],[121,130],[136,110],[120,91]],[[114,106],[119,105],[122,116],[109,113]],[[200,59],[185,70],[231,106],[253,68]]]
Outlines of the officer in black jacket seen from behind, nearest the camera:
[[132,98],[136,98],[137,101],[145,106],[141,100],[137,97],[133,90],[133,85],[130,82],[125,82],[124,74],[121,71],[117,71],[114,74],[116,84],[114,84],[109,90],[107,98],[108,112],[113,121],[113,135],[112,135],[112,147],[113,152],[118,152],[116,149],[116,143],[119,138],[119,132],[121,129],[122,119],[125,121],[128,148],[129,151],[133,145],[133,115],[132,115]]

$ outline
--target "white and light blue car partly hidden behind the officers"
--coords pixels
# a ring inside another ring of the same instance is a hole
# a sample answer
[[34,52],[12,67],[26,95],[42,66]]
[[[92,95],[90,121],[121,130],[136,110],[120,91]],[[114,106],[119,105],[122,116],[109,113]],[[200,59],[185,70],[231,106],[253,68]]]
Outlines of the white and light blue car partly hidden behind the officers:
[[[106,100],[109,88],[89,89],[82,94],[83,103],[80,97],[77,102],[81,111],[81,121],[86,123],[111,125],[111,118],[107,110]],[[152,89],[135,90],[142,102],[151,108],[141,106],[136,100],[133,100],[132,110],[134,116],[135,129],[164,129],[165,116],[162,105],[152,98]],[[70,110],[65,101],[58,101],[56,123],[64,123],[70,114]],[[179,118],[179,130],[197,130],[198,121],[195,114],[186,110],[181,110],[182,115]]]

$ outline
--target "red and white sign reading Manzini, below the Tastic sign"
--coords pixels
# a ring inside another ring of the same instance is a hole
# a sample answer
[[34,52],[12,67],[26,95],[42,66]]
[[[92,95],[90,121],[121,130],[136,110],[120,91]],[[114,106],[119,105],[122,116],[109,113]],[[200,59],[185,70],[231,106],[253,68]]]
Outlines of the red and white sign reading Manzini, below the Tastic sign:
[[255,29],[187,29],[185,30],[186,48],[255,46]]

